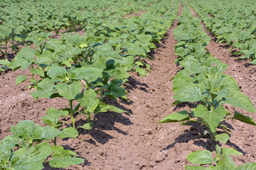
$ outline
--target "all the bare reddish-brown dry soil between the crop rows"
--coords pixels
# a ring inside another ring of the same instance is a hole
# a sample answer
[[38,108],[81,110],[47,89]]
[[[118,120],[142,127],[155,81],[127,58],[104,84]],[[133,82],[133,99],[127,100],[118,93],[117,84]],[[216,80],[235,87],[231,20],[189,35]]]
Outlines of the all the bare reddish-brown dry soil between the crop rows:
[[[178,16],[181,15],[180,5]],[[193,12],[193,16],[197,16]],[[188,110],[191,104],[171,106],[174,102],[171,78],[180,70],[174,60],[174,26],[169,28],[166,38],[161,41],[151,57],[147,60],[151,64],[149,76],[138,77],[131,73],[129,82],[124,84],[129,91],[130,102],[118,99],[107,100],[108,103],[124,109],[128,113],[100,113],[96,116],[95,128],[90,131],[80,130],[76,139],[58,140],[58,145],[65,149],[77,152],[80,157],[87,159],[85,164],[70,166],[66,169],[184,169],[191,164],[186,155],[196,150],[210,146],[208,136],[203,135],[203,126],[188,124],[179,126],[179,123],[157,123],[170,113]],[[203,23],[202,23],[203,24]],[[204,31],[207,32],[206,29]],[[208,33],[210,35],[210,33]],[[256,106],[256,67],[248,65],[248,61],[237,60],[221,43],[216,43],[212,37],[207,46],[210,53],[220,61],[229,64],[225,72],[238,81],[241,91],[249,96]],[[25,70],[25,74],[28,70]],[[33,100],[29,94],[33,90],[27,89],[28,81],[15,86],[15,79],[21,70],[0,75],[0,140],[10,135],[10,126],[21,120],[33,120],[43,125],[41,117],[50,107],[65,108],[68,102],[62,99],[39,98]],[[256,120],[253,113],[246,113],[233,106],[225,106],[231,112],[234,110],[250,115]],[[80,119],[77,123],[85,123]],[[228,120],[226,124],[233,129],[230,141],[222,147],[233,147],[243,155],[233,157],[237,165],[247,162],[256,162],[256,130],[252,125],[246,125],[236,120]],[[46,166],[45,169],[52,169]]]

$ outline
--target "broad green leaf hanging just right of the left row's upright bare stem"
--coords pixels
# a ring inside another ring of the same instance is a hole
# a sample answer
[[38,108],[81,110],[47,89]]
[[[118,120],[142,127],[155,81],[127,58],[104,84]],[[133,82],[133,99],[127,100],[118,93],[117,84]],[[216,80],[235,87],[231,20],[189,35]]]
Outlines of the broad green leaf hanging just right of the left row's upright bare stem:
[[85,91],[83,94],[79,94],[76,99],[80,103],[80,106],[85,107],[85,110],[90,113],[95,111],[95,108],[97,108],[100,101],[97,98],[97,94],[92,89]]

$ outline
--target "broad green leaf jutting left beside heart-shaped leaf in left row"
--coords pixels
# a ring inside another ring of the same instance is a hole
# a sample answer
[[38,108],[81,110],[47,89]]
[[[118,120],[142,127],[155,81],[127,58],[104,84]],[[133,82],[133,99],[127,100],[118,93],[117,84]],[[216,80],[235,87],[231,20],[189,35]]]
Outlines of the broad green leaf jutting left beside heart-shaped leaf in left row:
[[54,82],[46,78],[38,83],[37,90],[32,92],[31,95],[33,98],[48,98],[54,94],[55,91]]

